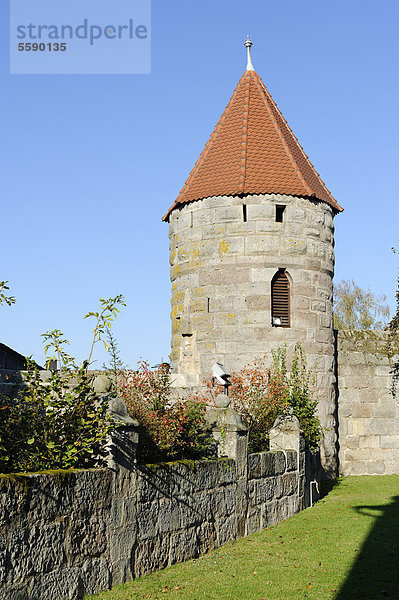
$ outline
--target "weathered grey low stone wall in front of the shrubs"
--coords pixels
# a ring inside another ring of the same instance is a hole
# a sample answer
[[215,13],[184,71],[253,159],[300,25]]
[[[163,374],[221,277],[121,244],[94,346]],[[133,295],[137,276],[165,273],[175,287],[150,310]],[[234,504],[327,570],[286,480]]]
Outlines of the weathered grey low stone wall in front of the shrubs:
[[304,504],[295,450],[0,476],[0,599],[77,600],[268,527]]

